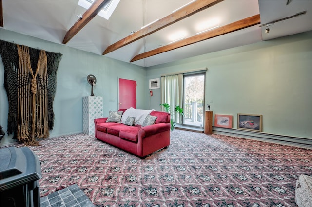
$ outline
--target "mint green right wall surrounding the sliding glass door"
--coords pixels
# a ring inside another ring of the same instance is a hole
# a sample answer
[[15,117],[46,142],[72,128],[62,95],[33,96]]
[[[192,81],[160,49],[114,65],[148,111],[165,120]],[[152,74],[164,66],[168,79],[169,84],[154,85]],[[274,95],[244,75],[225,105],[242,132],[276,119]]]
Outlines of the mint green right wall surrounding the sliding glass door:
[[[264,133],[312,138],[312,31],[149,67],[146,87],[161,74],[203,67],[205,106],[233,115],[234,129],[237,113],[262,114]],[[156,109],[160,90],[153,94]]]

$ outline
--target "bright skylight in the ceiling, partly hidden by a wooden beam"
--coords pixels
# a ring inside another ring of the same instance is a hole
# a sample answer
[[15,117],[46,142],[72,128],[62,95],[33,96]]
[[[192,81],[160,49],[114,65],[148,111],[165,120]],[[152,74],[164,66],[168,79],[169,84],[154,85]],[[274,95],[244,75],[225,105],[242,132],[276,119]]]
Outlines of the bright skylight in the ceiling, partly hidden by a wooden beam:
[[[89,9],[89,7],[93,4],[93,1],[94,0],[79,0],[78,5],[85,9]],[[98,15],[108,20],[116,9],[119,1],[120,0],[107,0]]]

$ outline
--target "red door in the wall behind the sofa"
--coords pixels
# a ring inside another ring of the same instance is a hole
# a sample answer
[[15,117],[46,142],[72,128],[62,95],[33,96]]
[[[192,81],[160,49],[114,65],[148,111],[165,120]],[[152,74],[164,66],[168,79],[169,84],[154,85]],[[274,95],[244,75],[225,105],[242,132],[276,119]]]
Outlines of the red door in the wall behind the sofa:
[[137,107],[137,81],[119,78],[119,109]]

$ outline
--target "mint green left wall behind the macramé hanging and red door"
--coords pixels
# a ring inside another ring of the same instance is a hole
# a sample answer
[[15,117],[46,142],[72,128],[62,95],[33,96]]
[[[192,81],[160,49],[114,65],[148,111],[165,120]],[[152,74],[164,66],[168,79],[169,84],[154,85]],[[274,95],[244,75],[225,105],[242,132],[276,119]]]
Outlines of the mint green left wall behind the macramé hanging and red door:
[[[102,55],[84,52],[65,45],[0,29],[0,39],[27,45],[49,52],[63,54],[57,74],[57,91],[54,99],[54,129],[50,137],[83,132],[82,97],[91,94],[87,75],[97,78],[94,88],[96,96],[103,97],[103,114],[118,109],[118,78],[137,81],[137,108],[145,107],[146,69],[133,64],[117,61]],[[8,100],[3,87],[4,69],[0,61],[0,125],[7,130]],[[12,137],[2,139],[1,145],[12,142]]]

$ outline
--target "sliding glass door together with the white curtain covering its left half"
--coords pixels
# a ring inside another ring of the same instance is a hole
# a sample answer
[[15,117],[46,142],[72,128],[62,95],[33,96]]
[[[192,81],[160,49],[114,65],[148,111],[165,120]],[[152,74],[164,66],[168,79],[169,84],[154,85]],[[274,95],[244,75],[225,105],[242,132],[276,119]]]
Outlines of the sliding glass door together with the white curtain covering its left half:
[[203,127],[206,71],[199,68],[161,75],[161,103],[183,108],[184,116],[171,117],[177,124]]

